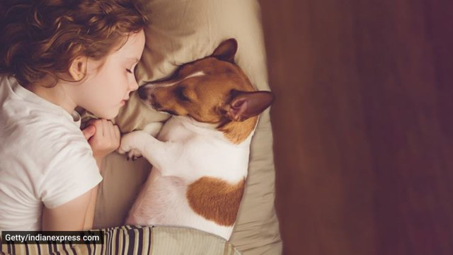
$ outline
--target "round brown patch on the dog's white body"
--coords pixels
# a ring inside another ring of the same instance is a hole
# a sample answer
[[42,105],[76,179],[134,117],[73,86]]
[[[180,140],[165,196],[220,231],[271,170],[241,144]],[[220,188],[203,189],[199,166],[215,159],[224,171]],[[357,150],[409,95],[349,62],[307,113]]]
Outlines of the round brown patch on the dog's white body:
[[230,184],[213,177],[202,177],[188,186],[186,196],[190,208],[218,225],[233,226],[246,180]]

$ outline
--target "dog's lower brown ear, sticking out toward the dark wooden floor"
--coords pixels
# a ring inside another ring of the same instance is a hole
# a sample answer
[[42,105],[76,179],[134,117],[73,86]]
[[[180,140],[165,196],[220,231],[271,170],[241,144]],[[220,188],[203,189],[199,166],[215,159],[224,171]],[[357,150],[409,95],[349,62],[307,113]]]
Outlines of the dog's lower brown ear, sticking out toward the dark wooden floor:
[[234,121],[243,121],[262,113],[274,101],[270,91],[232,91],[234,95],[226,105],[226,118]]

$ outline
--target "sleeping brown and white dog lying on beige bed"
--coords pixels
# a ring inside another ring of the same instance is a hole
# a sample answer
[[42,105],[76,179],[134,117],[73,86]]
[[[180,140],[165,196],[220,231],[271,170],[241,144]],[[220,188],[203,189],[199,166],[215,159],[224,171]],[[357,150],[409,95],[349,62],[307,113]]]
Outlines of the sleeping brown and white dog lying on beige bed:
[[121,139],[120,153],[153,165],[126,224],[193,227],[229,239],[258,115],[273,101],[234,64],[236,50],[236,40],[226,40],[170,79],[139,87],[147,106],[172,117],[157,139],[145,131]]

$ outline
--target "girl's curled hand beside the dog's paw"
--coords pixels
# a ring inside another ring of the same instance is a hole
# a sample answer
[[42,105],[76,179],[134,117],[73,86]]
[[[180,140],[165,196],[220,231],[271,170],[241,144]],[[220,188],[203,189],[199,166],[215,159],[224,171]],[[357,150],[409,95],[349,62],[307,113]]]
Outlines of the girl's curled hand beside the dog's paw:
[[103,159],[120,147],[120,129],[110,120],[90,120],[82,132],[93,149],[93,157],[96,160]]

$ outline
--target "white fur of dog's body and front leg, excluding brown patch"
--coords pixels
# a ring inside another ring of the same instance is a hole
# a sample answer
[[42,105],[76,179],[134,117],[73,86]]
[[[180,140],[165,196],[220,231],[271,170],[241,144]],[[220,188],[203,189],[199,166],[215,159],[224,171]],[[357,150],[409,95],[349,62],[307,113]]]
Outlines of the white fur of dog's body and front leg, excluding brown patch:
[[144,131],[122,137],[120,153],[139,152],[154,166],[126,224],[193,227],[229,239],[233,226],[217,225],[197,215],[185,194],[188,185],[203,176],[231,183],[243,180],[252,135],[234,145],[213,125],[173,116],[159,140]]

